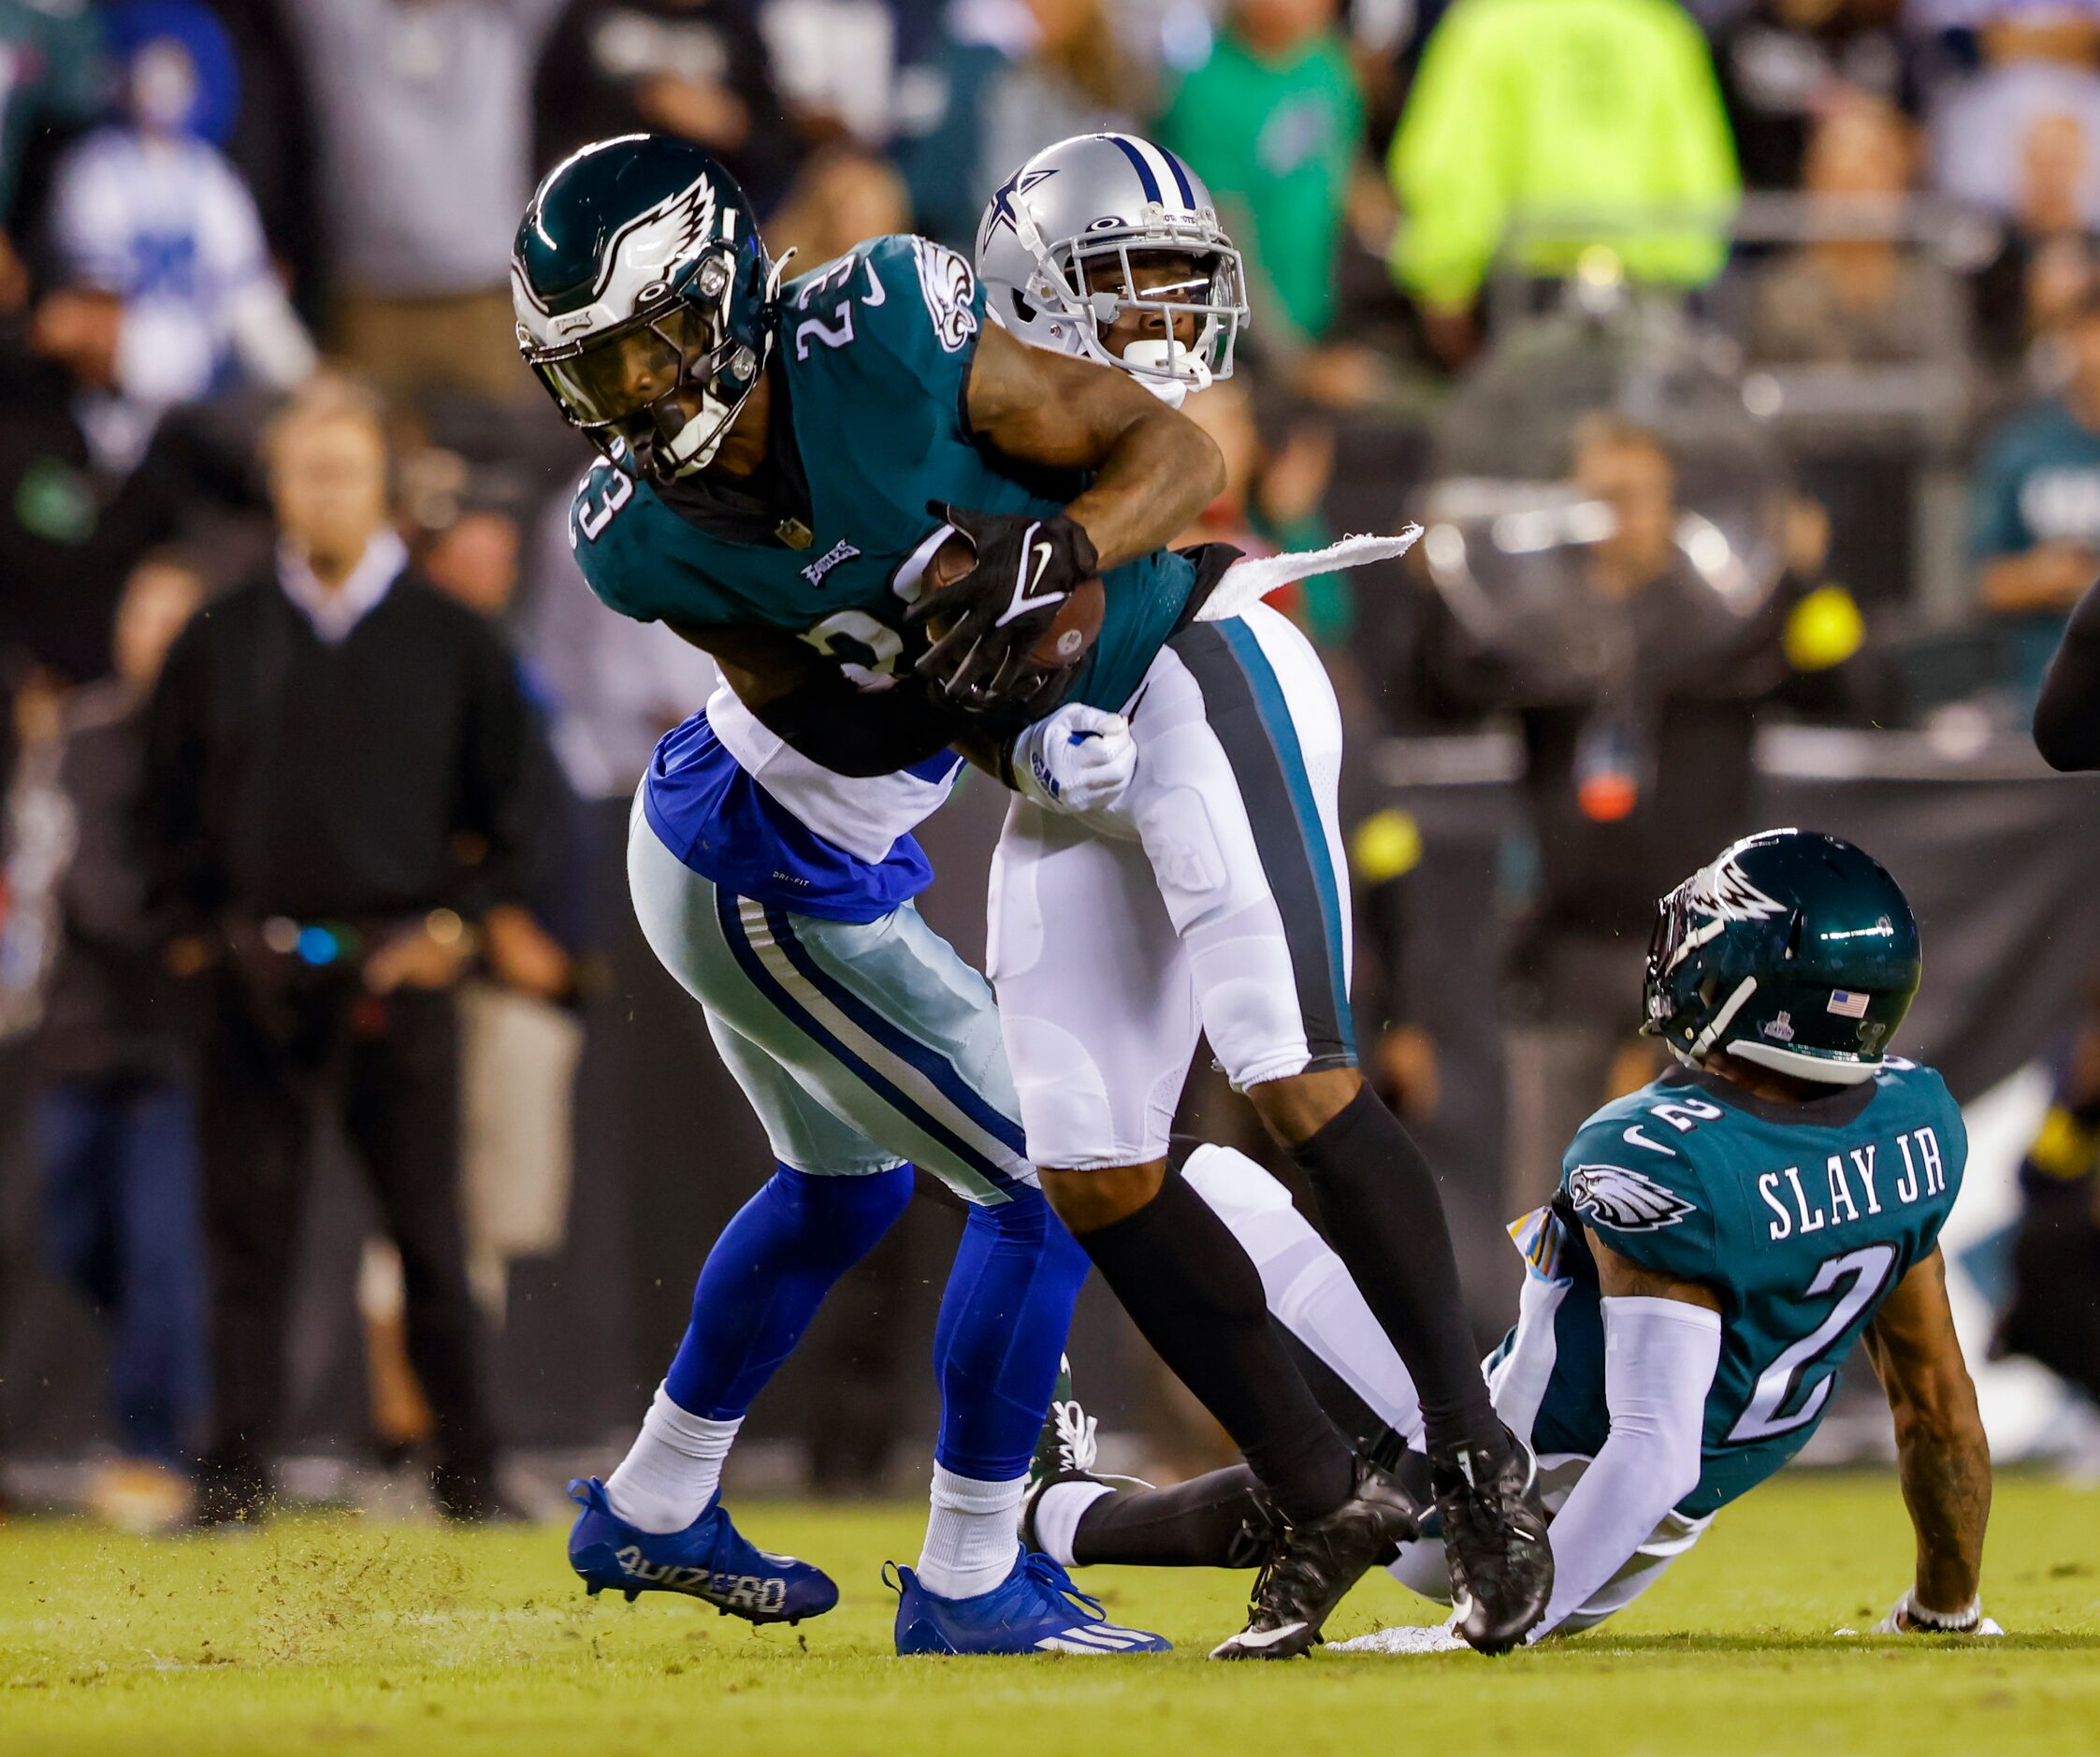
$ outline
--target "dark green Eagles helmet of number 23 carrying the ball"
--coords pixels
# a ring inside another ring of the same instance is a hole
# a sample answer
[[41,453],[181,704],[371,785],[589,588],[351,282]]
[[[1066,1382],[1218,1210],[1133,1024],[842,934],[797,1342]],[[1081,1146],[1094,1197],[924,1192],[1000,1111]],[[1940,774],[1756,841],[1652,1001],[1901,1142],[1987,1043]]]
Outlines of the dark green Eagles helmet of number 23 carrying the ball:
[[519,223],[519,351],[613,464],[668,483],[714,458],[758,384],[783,267],[699,147],[596,141],[546,174]]

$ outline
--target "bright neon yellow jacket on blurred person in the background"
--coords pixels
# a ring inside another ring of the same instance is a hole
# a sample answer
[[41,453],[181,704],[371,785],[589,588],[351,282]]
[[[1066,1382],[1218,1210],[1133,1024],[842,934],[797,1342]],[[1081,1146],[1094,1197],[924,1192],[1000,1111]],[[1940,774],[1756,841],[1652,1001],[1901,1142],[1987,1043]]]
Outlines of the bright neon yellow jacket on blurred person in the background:
[[1726,260],[1741,187],[1705,38],[1676,0],[1457,0],[1388,172],[1392,275],[1449,357],[1512,225],[1554,227],[1522,246],[1531,273],[1609,244],[1634,279],[1697,285]]

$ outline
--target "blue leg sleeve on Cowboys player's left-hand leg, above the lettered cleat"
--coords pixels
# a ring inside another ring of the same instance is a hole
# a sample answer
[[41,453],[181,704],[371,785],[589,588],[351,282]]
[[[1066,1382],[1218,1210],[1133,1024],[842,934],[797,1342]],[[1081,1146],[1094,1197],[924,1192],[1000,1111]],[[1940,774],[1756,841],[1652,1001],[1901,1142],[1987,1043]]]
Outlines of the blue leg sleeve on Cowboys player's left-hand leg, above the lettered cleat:
[[752,1406],[823,1295],[911,1201],[911,1167],[859,1178],[775,1171],[708,1251],[693,1320],[664,1375],[678,1409],[731,1421]]

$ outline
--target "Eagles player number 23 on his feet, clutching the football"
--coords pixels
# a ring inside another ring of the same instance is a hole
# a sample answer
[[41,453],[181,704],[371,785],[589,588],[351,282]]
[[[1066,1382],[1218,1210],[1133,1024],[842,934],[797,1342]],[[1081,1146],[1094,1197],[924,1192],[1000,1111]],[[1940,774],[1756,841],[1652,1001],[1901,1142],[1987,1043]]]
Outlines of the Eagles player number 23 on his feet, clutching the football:
[[[1142,143],[1111,151],[1142,166],[1157,197],[1147,210],[1195,244],[1203,244],[1197,223],[1208,223],[1214,241],[1203,252],[1228,252],[1214,214],[1195,210],[1184,168],[1147,157],[1157,149]],[[1161,174],[1178,189],[1172,202]],[[1142,1127],[1128,1146],[1117,1134],[1077,1157],[1069,1131],[1052,1127],[1065,1155],[1044,1188],[1168,1364],[1260,1465],[1289,1520],[1279,1545],[1289,1566],[1270,1574],[1273,1602],[1250,1637],[1220,1654],[1308,1646],[1348,1583],[1413,1532],[1418,1507],[1361,1465],[1321,1415],[1268,1325],[1243,1249],[1166,1180],[1163,1138],[1159,1161],[1147,1163],[1144,1117],[1157,1106],[1147,1108],[1132,1081],[1163,1085],[1174,1062],[1178,1083],[1205,978],[1239,1005],[1239,1018],[1222,1022],[1237,1026],[1235,1050],[1254,1060],[1245,1083],[1275,1081],[1260,1094],[1285,1100],[1300,1136],[1317,1136],[1300,1148],[1317,1182],[1357,1203],[1352,1236],[1392,1268],[1382,1316],[1418,1377],[1449,1394],[1424,1402],[1453,1570],[1478,1585],[1468,1633],[1480,1646],[1516,1639],[1544,1608],[1550,1568],[1544,1526],[1525,1499],[1529,1459],[1493,1417],[1478,1375],[1451,1369],[1464,1350],[1434,1180],[1390,1117],[1359,1115],[1361,1081],[1346,1045],[1331,1041],[1346,1037],[1336,1029],[1346,924],[1331,859],[1334,726],[1317,716],[1323,695],[1334,718],[1331,686],[1268,611],[1205,628],[1189,640],[1195,657],[1176,657],[1163,686],[1147,682],[1170,642],[1195,634],[1231,560],[1157,548],[1214,493],[1216,449],[1124,374],[1027,348],[987,325],[970,264],[926,239],[874,239],[783,288],[735,183],[682,143],[624,136],[550,172],[519,229],[512,283],[527,359],[607,453],[575,500],[571,535],[584,573],[615,609],[662,619],[716,655],[748,716],[714,731],[746,770],[764,762],[752,726],[846,777],[945,760],[943,747],[960,741],[1023,791],[1031,802],[1023,840],[1042,840],[1035,817],[1109,812],[1134,770],[1142,789],[1151,726],[1134,735],[1115,710],[1151,695],[1163,741],[1157,772],[1174,766],[1176,752],[1193,760],[1201,772],[1168,791],[1208,789],[1228,838],[1210,852],[1184,850],[1172,894],[1161,890],[1172,873],[1155,880],[1147,869],[1136,896],[1105,892],[1096,875],[1092,896],[1058,922],[1058,932],[1098,924],[1105,934],[1058,964],[1090,961],[1124,985],[1115,1016],[1100,993],[1082,997],[1109,1039],[1086,1045],[1063,1035],[1040,982],[1021,1035],[1004,1024],[1008,1056],[1016,1041],[1033,1047],[1037,1106],[1052,1104],[1052,1125],[1060,1056],[1071,1071],[1065,1089],[1082,1100],[1100,1068],[1117,1071],[1113,1117],[1094,1104],[1071,1115],[1082,1129]],[[1115,306],[1109,288],[1079,302],[1094,323],[1109,321],[1105,304]],[[1226,315],[1237,321],[1237,300]],[[1205,317],[1203,346],[1218,340],[1216,317]],[[943,573],[958,552],[960,577]],[[1088,605],[1092,628],[1084,615],[1067,619]],[[1077,642],[1065,644],[1073,630]],[[1046,636],[1056,642],[1048,655]],[[1203,726],[1199,674],[1201,697],[1218,691],[1212,707],[1226,716],[1216,728]],[[1323,779],[1308,777],[1296,701],[1315,707],[1306,739],[1319,745]],[[735,747],[739,737],[748,749]],[[1250,806],[1241,789],[1256,785],[1266,791]],[[1082,848],[1111,835],[1136,846],[1149,831],[1142,821],[1096,821]],[[680,863],[706,875],[712,846],[708,835],[687,838]],[[1023,850],[1008,865],[1033,882],[1042,863]],[[1111,890],[1128,884],[1117,865]],[[716,890],[737,905],[718,896],[712,917],[727,955],[741,959],[739,947],[758,955],[771,915],[754,922],[758,898],[739,903],[720,882]],[[1010,919],[1033,903],[1016,896]],[[1147,905],[1142,924],[1115,913]],[[1195,970],[1182,934],[1201,940]],[[1166,972],[1155,968],[1161,945]],[[1231,959],[1239,959],[1233,970]],[[834,1012],[867,1035],[848,1001],[876,999],[880,1012],[874,972],[838,961],[830,976]],[[1170,1041],[1140,1068],[1130,1052],[1157,1022],[1147,1005],[1161,997],[1174,1014],[1163,1022]],[[1315,1026],[1315,1012],[1329,1024]],[[1208,1022],[1218,1041],[1218,1020]],[[1029,1104],[1023,1083],[1029,1157],[1044,1165]],[[903,1631],[903,1610],[899,1621]]]

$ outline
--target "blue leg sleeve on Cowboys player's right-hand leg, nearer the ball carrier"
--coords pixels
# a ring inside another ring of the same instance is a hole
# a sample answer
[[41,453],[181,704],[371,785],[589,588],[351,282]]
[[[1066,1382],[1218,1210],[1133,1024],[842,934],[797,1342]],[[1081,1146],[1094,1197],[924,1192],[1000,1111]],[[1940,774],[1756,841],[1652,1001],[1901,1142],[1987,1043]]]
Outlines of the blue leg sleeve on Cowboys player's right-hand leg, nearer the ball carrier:
[[1027,1472],[1086,1272],[1040,1190],[970,1209],[932,1333],[945,1469],[979,1482]]

